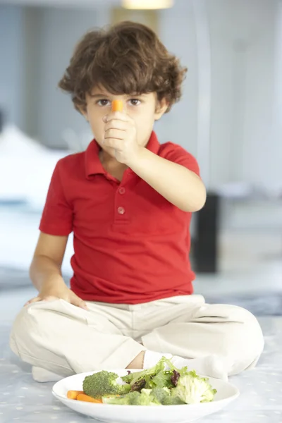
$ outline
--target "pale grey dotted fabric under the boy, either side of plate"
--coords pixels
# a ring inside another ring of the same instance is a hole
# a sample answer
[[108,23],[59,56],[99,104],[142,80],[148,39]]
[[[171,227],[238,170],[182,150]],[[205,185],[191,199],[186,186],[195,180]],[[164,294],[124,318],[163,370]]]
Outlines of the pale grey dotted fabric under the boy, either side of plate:
[[[282,317],[261,317],[266,347],[256,369],[233,376],[240,397],[202,423],[282,423]],[[52,383],[37,384],[30,366],[8,349],[9,324],[0,326],[0,423],[85,423],[51,395]],[[158,422],[161,423],[161,422]]]

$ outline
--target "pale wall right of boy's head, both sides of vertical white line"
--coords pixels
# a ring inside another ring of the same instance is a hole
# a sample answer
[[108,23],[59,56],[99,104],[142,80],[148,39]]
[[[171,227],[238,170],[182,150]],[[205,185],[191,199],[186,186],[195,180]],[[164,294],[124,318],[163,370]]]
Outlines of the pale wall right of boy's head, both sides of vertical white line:
[[[276,54],[281,54],[281,39],[274,49],[275,27],[282,27],[282,19],[276,19],[278,1],[207,0],[206,5],[212,54],[209,186],[243,180],[271,188],[282,169],[282,143],[272,131]],[[182,102],[157,125],[158,133],[196,154],[198,68],[192,1],[176,2],[175,8],[161,12],[160,35],[189,72]],[[282,180],[281,171],[280,176]]]

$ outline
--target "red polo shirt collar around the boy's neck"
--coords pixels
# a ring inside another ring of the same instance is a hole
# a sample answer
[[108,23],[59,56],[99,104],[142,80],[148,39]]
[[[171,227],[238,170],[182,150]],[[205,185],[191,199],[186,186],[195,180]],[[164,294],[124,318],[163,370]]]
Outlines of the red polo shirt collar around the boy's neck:
[[[152,131],[151,136],[149,137],[149,141],[147,144],[147,149],[154,153],[159,153],[159,140],[157,138],[156,133]],[[99,151],[101,147],[99,146],[98,142],[96,140],[92,140],[90,142],[90,145],[88,145],[86,151],[85,151],[85,173],[86,177],[89,178],[92,175],[97,174],[105,174],[106,171],[104,167],[102,166],[102,163],[99,159]]]

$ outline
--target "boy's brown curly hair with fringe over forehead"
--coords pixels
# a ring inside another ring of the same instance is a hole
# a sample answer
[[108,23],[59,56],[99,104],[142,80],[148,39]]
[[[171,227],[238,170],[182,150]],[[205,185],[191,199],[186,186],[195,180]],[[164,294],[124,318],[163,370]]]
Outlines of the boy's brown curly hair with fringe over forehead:
[[92,30],[75,48],[59,87],[71,93],[75,109],[85,109],[85,94],[104,87],[112,94],[157,92],[169,106],[181,97],[187,68],[168,53],[149,27],[124,21],[109,30]]

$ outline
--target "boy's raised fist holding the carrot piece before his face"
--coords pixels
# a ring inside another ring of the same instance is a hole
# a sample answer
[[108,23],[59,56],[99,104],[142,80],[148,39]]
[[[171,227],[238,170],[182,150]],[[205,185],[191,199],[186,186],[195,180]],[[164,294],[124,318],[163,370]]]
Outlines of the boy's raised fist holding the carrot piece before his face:
[[137,144],[137,130],[135,121],[121,111],[114,111],[104,116],[105,138],[103,145],[115,149],[116,160],[130,167],[135,161],[142,147]]

